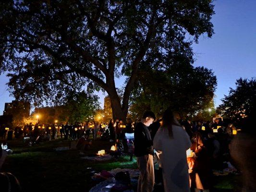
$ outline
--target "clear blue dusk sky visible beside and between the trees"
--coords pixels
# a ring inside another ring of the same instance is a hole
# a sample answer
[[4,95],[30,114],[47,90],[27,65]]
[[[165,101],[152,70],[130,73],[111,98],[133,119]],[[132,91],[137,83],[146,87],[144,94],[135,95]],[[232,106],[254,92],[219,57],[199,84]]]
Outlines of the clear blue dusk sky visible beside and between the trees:
[[[216,0],[212,17],[215,34],[201,36],[194,44],[195,66],[212,69],[217,76],[215,92],[217,107],[236,79],[256,77],[256,0]],[[13,100],[7,91],[8,78],[0,75],[0,115],[4,103]],[[117,86],[122,81],[117,82]],[[101,95],[101,94],[99,94]],[[103,97],[100,96],[103,106]]]

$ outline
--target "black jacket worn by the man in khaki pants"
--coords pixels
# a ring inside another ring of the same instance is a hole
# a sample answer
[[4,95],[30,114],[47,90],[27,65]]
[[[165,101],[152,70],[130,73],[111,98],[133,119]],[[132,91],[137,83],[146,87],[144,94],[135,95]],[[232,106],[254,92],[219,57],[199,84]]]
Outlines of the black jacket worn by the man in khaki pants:
[[138,122],[134,129],[134,155],[154,155],[153,141],[146,125]]

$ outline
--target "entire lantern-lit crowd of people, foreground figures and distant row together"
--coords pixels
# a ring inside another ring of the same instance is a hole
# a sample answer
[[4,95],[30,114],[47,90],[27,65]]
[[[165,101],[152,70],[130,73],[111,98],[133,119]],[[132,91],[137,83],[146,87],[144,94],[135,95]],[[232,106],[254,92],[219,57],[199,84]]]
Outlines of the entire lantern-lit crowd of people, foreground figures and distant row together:
[[[147,111],[135,122],[127,119],[125,123],[123,120],[30,123],[13,130],[0,126],[2,139],[14,135],[17,139],[29,138],[35,144],[57,137],[75,140],[81,154],[92,144],[90,139],[122,141],[126,146],[123,151],[131,156],[130,160],[133,155],[137,157],[140,170],[137,192],[152,192],[155,183],[163,183],[165,192],[210,190],[212,171],[224,168],[223,161],[229,155],[229,144],[236,132],[232,123],[223,122],[221,118],[214,118],[212,122],[179,122],[170,109],[158,120],[153,112]],[[126,133],[134,134],[131,143],[126,140]],[[188,152],[191,155],[187,155]]]

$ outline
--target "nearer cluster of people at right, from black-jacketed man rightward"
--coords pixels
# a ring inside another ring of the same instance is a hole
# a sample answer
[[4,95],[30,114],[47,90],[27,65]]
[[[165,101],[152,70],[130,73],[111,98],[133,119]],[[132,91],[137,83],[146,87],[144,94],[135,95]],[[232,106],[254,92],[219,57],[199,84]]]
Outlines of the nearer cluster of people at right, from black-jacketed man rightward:
[[155,183],[161,182],[165,192],[210,191],[213,170],[227,166],[223,161],[229,158],[229,144],[237,132],[234,125],[221,118],[179,122],[170,109],[162,119],[155,119],[147,111],[135,125],[134,155],[140,170],[137,192],[158,191]]

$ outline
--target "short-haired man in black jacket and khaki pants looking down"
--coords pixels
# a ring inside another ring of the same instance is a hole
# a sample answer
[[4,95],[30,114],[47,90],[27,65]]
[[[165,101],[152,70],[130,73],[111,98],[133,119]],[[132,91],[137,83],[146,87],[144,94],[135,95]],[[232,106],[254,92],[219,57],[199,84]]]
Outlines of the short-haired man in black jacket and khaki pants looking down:
[[154,150],[148,126],[155,119],[152,111],[146,111],[134,129],[134,155],[140,170],[137,192],[152,192],[154,187]]

